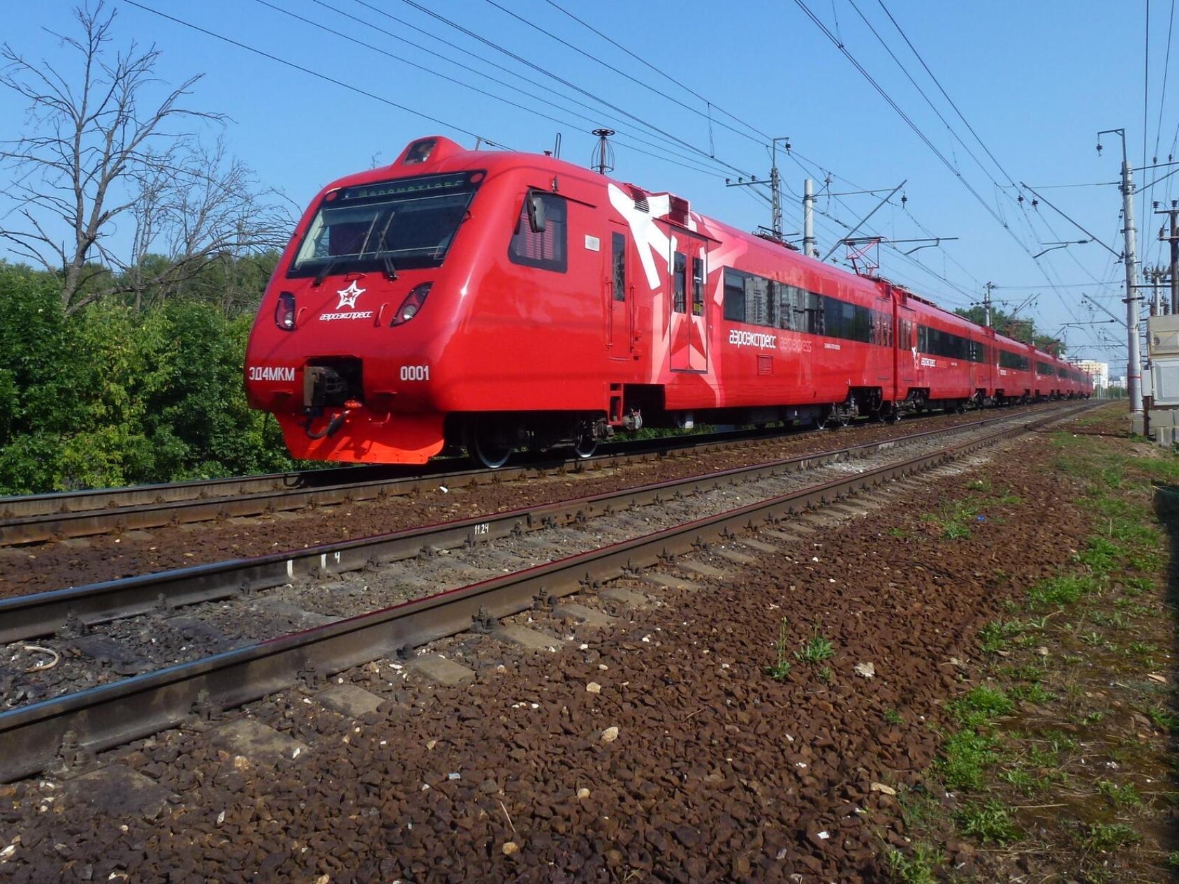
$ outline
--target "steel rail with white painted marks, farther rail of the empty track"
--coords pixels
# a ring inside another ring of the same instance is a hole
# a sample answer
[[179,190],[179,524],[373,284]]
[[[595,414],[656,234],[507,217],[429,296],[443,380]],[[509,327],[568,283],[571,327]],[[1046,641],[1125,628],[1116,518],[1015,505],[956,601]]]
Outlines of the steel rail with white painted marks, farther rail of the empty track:
[[61,628],[85,628],[137,614],[152,612],[166,614],[190,605],[245,595],[298,580],[380,567],[402,559],[429,555],[433,549],[449,549],[546,526],[579,522],[625,507],[658,503],[666,497],[683,497],[722,484],[737,484],[864,457],[935,436],[969,433],[994,423],[1009,423],[1013,420],[1017,418],[990,417],[878,442],[864,442],[848,448],[735,467],[472,519],[407,528],[369,537],[335,541],[299,550],[196,565],[32,595],[15,595],[0,599],[0,644],[52,635]]

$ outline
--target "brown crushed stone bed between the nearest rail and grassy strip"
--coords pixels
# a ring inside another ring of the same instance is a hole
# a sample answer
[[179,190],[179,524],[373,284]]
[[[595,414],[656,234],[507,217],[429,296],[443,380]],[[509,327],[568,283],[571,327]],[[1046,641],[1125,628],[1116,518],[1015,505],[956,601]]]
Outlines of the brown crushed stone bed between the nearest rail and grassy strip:
[[[179,796],[153,820],[87,816],[38,783],[0,787],[0,820],[20,834],[5,871],[14,882],[881,880],[877,820],[889,838],[904,830],[895,798],[871,784],[920,784],[936,746],[926,721],[959,690],[950,658],[973,654],[976,628],[1084,534],[1043,469],[1042,435],[995,450],[891,510],[760,554],[730,586],[667,593],[630,622],[579,629],[587,649],[528,655],[481,640],[487,665],[462,688],[365,668],[362,684],[389,701],[361,720],[297,692],[256,704],[311,746],[277,770],[196,731],[112,753]],[[984,507],[969,539],[934,536],[921,516],[980,496],[968,489],[980,475],[1020,502]],[[783,682],[765,674],[783,615],[791,648],[814,632],[832,641],[830,684],[804,662]],[[855,674],[862,662],[874,678]],[[907,724],[888,724],[889,710]],[[610,727],[618,735],[605,741]]]

